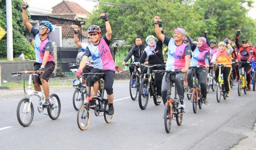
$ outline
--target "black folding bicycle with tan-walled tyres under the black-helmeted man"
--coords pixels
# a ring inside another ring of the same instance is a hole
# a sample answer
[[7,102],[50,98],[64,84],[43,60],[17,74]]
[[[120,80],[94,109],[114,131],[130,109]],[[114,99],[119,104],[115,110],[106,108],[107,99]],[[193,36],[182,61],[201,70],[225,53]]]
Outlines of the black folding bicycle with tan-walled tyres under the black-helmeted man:
[[[82,73],[82,75],[89,75],[91,80],[91,75],[101,75],[100,79],[103,78],[104,73]],[[90,82],[89,87],[91,87]],[[90,124],[90,109],[94,110],[95,116],[99,116],[100,112],[103,112],[104,120],[106,123],[110,123],[113,121],[114,114],[108,115],[108,107],[109,101],[104,97],[104,90],[105,90],[105,80],[103,80],[103,89],[100,93],[100,96],[91,97],[91,88],[88,88],[88,93],[86,94],[86,102],[81,106],[78,110],[77,114],[77,124],[80,130],[86,130]]]

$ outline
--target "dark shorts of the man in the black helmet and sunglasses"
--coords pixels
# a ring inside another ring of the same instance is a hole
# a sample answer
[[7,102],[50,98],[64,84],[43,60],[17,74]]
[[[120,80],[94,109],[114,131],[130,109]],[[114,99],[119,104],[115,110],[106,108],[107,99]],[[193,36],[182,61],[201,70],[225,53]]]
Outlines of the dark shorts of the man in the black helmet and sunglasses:
[[[105,90],[107,92],[108,95],[111,95],[113,94],[113,83],[114,83],[114,76],[115,76],[115,71],[113,70],[100,70],[98,68],[93,68],[93,70],[91,70],[91,73],[101,73],[103,72],[104,73],[104,76],[103,76],[103,79],[105,80]],[[87,81],[90,81],[90,84],[91,86],[93,86],[93,84],[95,82],[97,82],[99,79],[100,79],[100,76],[101,75],[91,75],[90,76],[87,76]],[[88,85],[88,82],[86,82],[87,86]]]

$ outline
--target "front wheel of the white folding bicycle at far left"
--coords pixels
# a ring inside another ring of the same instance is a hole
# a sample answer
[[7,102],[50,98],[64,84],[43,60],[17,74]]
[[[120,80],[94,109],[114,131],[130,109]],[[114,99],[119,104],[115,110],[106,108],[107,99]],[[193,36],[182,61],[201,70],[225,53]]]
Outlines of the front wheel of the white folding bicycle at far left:
[[23,127],[29,126],[33,121],[34,107],[32,102],[29,106],[29,98],[23,98],[19,101],[16,112],[19,124]]

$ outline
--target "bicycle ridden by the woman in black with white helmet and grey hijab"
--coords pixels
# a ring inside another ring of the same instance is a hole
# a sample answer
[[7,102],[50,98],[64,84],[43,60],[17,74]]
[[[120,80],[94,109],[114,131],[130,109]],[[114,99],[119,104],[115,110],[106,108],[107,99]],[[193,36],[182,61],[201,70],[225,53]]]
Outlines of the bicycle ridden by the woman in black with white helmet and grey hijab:
[[163,64],[155,64],[153,66],[147,66],[144,64],[140,64],[140,65],[148,68],[147,73],[144,74],[139,87],[139,99],[138,99],[139,107],[140,109],[144,110],[147,107],[149,95],[153,97],[153,101],[155,105],[159,105],[161,103],[161,102],[157,102],[157,87],[154,79],[154,74],[156,72],[155,73],[150,73],[150,72],[151,72],[151,68],[153,67],[160,67],[165,65]]

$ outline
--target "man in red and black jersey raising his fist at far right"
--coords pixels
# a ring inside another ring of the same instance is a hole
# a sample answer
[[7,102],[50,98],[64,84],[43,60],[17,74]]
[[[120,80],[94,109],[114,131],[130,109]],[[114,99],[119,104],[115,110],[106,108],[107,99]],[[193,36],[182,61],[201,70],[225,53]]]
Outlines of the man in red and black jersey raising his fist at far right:
[[[238,42],[240,34],[241,34],[241,30],[238,29],[236,34],[236,39],[235,39],[235,43],[238,48],[237,59],[241,62],[251,62],[253,55],[256,55],[256,48],[253,45],[250,45],[247,39],[242,40],[242,46],[241,46]],[[239,76],[238,67],[239,67],[239,64],[236,65],[237,76]],[[251,71],[252,71],[251,63],[241,64],[241,67],[244,67],[246,71],[247,87],[248,87],[248,91],[251,91]]]

